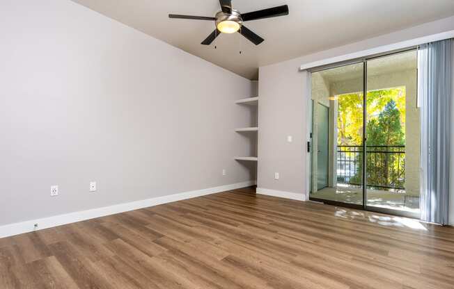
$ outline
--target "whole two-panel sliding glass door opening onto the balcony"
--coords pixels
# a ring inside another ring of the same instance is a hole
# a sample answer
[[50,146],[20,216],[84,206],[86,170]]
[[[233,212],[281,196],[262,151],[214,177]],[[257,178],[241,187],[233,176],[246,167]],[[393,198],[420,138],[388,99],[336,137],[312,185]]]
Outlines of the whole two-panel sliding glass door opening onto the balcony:
[[416,68],[410,50],[311,73],[310,199],[418,216]]

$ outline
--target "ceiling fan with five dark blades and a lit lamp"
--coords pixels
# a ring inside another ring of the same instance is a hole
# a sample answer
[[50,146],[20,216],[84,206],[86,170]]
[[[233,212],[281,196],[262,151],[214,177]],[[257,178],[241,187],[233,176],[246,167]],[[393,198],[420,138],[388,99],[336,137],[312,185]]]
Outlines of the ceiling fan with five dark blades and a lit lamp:
[[221,33],[235,33],[237,31],[253,42],[253,44],[258,45],[262,43],[264,39],[246,28],[246,26],[243,25],[243,22],[288,15],[287,5],[241,14],[238,10],[232,8],[232,0],[219,0],[219,3],[221,4],[221,11],[216,13],[214,17],[175,14],[169,14],[169,17],[214,21],[216,29],[208,35],[208,38],[203,40],[201,43],[203,45],[210,45],[214,39],[217,38],[217,35]]

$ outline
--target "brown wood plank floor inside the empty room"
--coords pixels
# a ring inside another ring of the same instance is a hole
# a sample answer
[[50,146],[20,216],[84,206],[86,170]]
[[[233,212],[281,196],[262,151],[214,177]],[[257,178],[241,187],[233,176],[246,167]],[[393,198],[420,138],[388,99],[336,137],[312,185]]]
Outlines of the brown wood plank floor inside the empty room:
[[454,288],[454,229],[245,188],[0,239],[0,288]]

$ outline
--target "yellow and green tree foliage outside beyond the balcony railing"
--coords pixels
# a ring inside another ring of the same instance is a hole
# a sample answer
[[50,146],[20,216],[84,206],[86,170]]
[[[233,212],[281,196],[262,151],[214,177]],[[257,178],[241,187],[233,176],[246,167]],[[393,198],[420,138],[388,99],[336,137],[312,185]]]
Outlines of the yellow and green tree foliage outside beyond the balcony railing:
[[[361,92],[341,94],[338,99],[338,145],[362,145],[363,142],[363,94]],[[390,154],[405,145],[405,87],[386,88],[367,92],[367,179],[369,185],[398,185],[400,176],[394,172],[405,172],[405,155]],[[370,147],[384,146],[384,147]],[[347,153],[362,163],[363,154]],[[398,156],[398,157],[396,157]],[[400,158],[399,158],[400,157]],[[352,177],[352,183],[361,182],[361,165]]]

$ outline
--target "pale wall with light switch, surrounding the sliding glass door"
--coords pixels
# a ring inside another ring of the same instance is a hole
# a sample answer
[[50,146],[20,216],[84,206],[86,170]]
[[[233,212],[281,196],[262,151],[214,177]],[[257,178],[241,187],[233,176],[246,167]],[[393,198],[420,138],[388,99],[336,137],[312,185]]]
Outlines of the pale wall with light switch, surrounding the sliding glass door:
[[[307,72],[299,72],[301,65],[453,29],[454,17],[449,17],[343,47],[260,67],[258,188],[299,195],[307,193],[308,88]],[[295,141],[286,142],[286,135],[293,135]],[[274,172],[280,172],[278,181],[273,178]],[[454,172],[452,173],[454,175]]]

